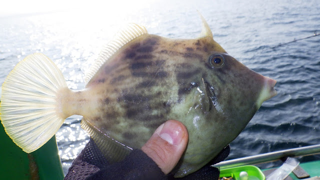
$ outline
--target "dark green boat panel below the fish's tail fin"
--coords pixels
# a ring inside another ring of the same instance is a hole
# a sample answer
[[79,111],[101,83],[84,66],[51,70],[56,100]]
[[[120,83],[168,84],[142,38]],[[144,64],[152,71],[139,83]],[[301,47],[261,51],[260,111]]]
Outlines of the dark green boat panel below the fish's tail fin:
[[26,153],[10,139],[0,123],[0,139],[0,179],[63,179],[55,136],[34,152]]

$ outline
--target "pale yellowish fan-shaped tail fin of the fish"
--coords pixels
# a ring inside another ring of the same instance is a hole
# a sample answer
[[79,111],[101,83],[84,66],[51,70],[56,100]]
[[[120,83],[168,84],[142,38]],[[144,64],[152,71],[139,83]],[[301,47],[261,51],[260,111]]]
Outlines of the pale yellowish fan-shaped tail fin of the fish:
[[0,119],[14,143],[29,153],[47,142],[64,118],[56,113],[58,89],[67,87],[57,66],[34,53],[20,61],[2,84]]

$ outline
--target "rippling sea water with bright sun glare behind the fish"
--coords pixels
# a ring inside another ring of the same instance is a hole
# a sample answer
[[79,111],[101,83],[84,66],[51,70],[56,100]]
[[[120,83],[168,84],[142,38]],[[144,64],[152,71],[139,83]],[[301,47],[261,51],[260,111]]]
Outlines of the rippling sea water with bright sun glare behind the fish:
[[[61,69],[69,88],[82,89],[84,73],[122,25],[136,22],[152,34],[193,38],[201,31],[196,10],[230,55],[277,80],[278,94],[231,142],[228,159],[319,144],[320,35],[274,47],[320,33],[318,0],[137,0],[2,14],[0,84],[26,55],[42,52]],[[64,173],[89,139],[80,120],[79,115],[68,117],[56,133]],[[314,158],[320,156],[300,160]]]

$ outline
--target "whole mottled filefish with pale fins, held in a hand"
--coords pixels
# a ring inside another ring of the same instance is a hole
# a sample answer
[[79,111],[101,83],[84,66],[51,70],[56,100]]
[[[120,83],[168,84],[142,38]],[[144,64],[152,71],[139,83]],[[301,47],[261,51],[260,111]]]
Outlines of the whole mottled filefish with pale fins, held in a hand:
[[213,159],[246,126],[276,80],[229,55],[200,15],[198,37],[167,38],[130,23],[101,50],[71,90],[42,53],[18,62],[2,84],[0,119],[23,151],[41,147],[73,114],[109,162],[121,161],[168,119],[187,128],[187,147],[172,173],[183,177]]

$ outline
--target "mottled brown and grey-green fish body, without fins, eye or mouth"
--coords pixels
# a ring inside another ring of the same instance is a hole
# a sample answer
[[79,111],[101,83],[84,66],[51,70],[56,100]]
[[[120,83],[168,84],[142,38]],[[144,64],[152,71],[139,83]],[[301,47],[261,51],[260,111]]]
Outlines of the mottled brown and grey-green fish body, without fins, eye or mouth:
[[[212,54],[222,55],[224,64],[212,66]],[[263,84],[262,75],[212,37],[144,34],[120,48],[67,104],[75,106],[70,114],[83,115],[131,148],[140,148],[164,121],[183,122],[189,141],[176,167],[179,177],[206,164],[240,133],[261,105],[256,99]]]

